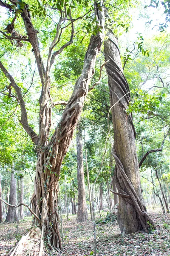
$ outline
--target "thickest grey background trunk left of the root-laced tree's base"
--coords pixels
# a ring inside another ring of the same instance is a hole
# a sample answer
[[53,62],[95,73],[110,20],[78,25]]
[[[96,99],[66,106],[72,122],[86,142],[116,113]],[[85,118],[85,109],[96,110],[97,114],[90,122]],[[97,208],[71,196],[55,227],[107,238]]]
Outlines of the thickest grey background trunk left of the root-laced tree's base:
[[[14,177],[14,169],[11,171],[11,183],[10,183],[10,193],[9,193],[9,204],[17,204],[17,181]],[[17,209],[14,207],[8,207],[8,213],[6,216],[6,222],[17,221]]]

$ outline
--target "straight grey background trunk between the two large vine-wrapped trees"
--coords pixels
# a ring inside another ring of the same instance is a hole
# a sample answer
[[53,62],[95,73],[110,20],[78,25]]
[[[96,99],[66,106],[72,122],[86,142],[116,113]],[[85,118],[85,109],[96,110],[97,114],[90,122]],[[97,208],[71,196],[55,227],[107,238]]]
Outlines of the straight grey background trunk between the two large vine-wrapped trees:
[[78,183],[78,210],[77,221],[87,221],[88,211],[85,200],[85,177],[83,166],[83,152],[82,152],[82,134],[77,128],[77,183]]

